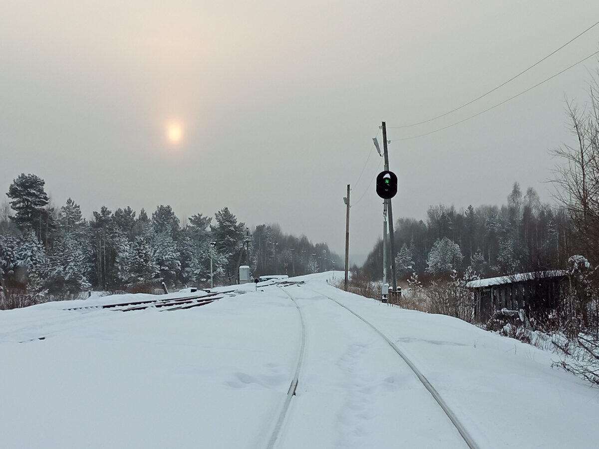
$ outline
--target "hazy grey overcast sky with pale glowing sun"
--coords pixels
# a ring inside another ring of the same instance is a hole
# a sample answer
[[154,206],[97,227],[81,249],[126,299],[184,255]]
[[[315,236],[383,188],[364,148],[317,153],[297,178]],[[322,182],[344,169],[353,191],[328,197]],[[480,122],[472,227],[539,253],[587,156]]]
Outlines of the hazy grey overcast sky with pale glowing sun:
[[[0,188],[46,181],[56,207],[180,217],[228,207],[253,227],[350,253],[382,236],[373,179],[388,127],[394,218],[504,204],[515,181],[552,202],[550,151],[574,143],[599,51],[590,0],[0,0]],[[416,137],[419,136],[419,137]],[[5,198],[7,199],[7,198]],[[4,201],[4,200],[3,200]]]

